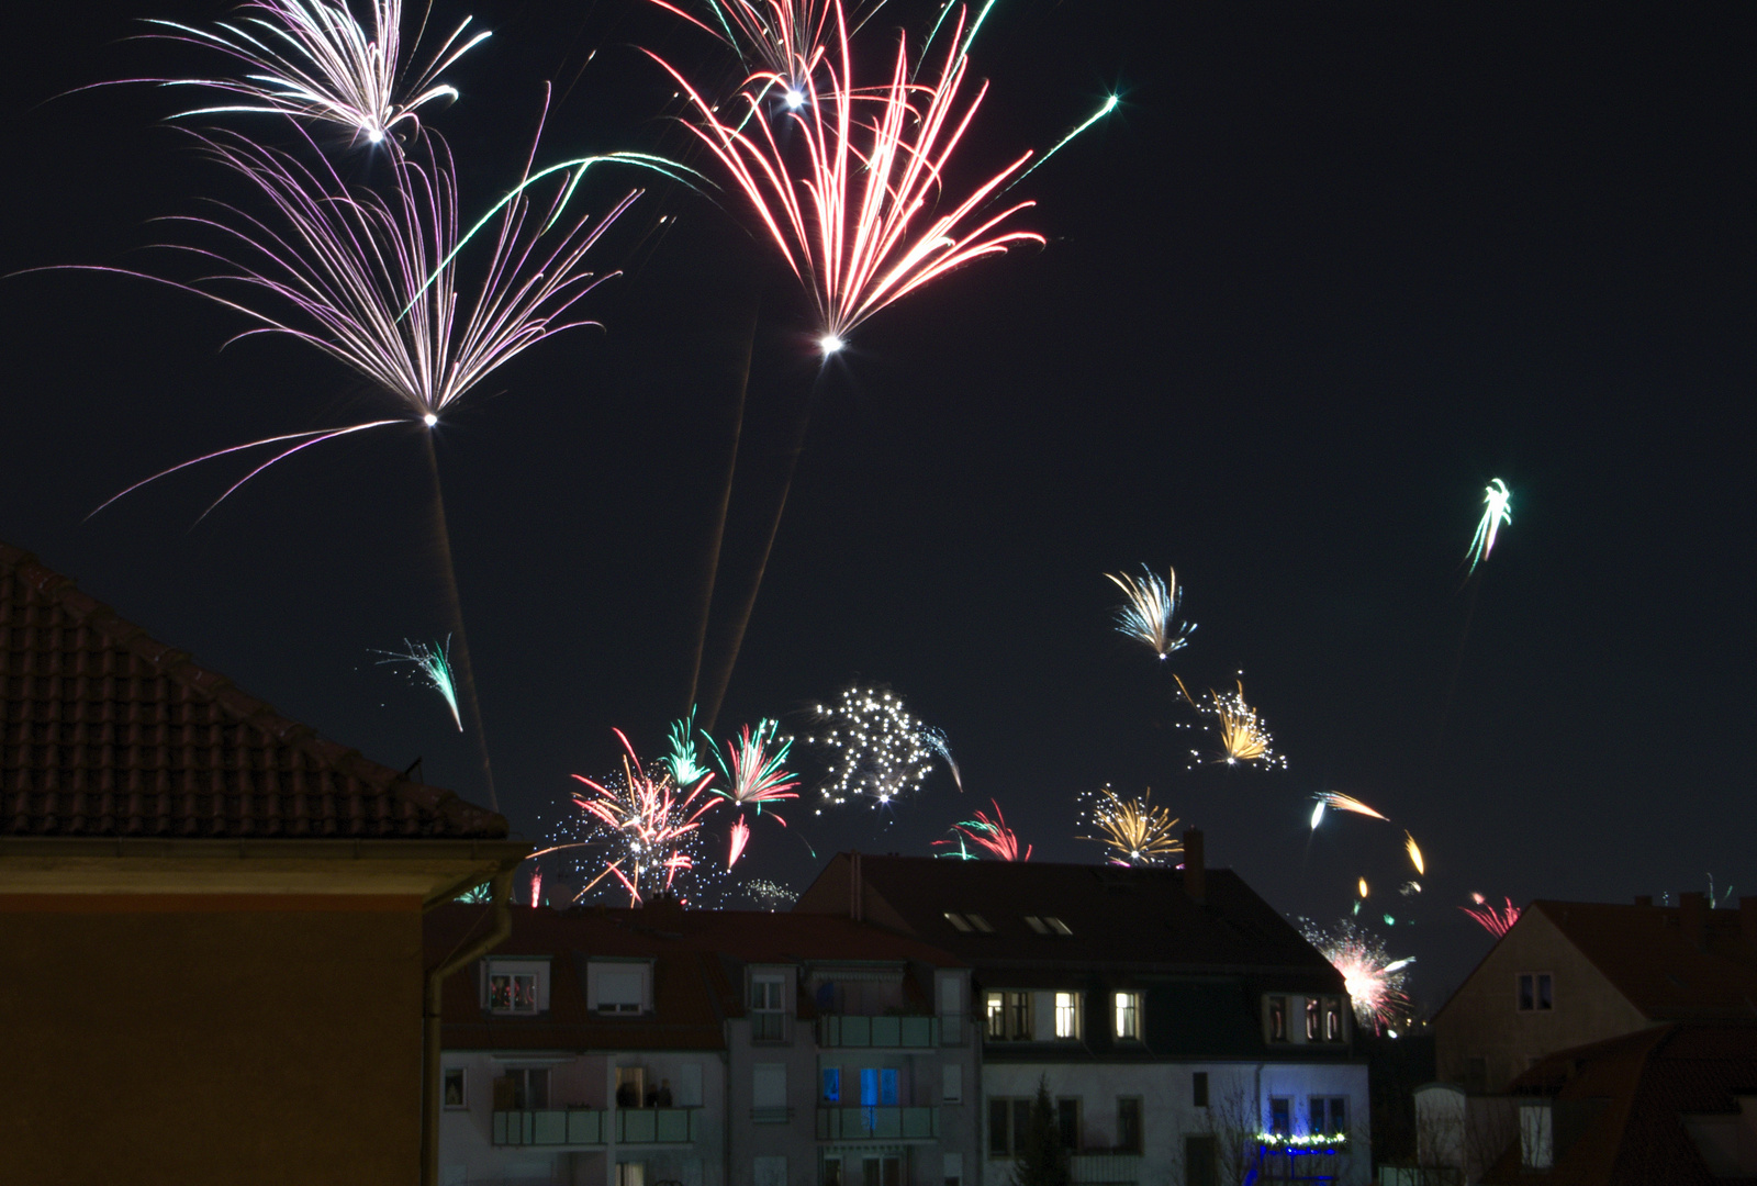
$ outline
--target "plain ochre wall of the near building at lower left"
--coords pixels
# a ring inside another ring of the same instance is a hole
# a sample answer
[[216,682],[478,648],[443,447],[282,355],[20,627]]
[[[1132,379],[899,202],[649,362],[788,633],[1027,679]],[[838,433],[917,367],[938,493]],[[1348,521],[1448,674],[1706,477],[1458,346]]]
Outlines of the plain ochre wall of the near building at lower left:
[[0,896],[0,1017],[5,1181],[418,1181],[415,896]]

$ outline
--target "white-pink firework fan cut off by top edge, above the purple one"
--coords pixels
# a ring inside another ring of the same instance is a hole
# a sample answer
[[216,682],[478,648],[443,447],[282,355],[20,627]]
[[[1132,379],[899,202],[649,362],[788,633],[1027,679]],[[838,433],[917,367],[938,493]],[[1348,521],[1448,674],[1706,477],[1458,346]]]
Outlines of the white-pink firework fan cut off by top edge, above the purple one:
[[[464,39],[473,18],[464,18],[422,70],[402,60],[402,0],[372,0],[372,32],[350,12],[346,0],[251,0],[241,5],[235,23],[195,28],[176,21],[148,21],[167,33],[242,63],[235,79],[139,79],[167,86],[200,86],[241,97],[220,107],[183,112],[283,114],[295,119],[337,123],[371,144],[395,142],[399,123],[420,125],[415,114],[437,98],[457,98],[457,88],[439,83],[439,74],[488,39]],[[425,26],[425,18],[422,19]],[[416,33],[415,42],[420,42]],[[415,46],[411,46],[413,56]],[[404,84],[404,76],[411,74]]]

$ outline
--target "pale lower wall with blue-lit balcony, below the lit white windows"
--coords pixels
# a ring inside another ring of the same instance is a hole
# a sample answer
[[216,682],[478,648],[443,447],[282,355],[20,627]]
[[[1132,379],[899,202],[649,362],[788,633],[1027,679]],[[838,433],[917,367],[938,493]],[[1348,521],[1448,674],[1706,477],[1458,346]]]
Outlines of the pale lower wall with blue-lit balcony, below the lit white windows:
[[[1209,1075],[1209,1105],[1193,1102],[1195,1074]],[[1184,1139],[1200,1135],[1253,1137],[1267,1128],[1270,1096],[1293,1100],[1293,1130],[1305,1130],[1311,1096],[1346,1096],[1351,1153],[1327,1158],[1342,1186],[1363,1186],[1372,1177],[1372,1126],[1363,1063],[984,1063],[982,1186],[1010,1186],[1014,1160],[987,1156],[987,1103],[991,1098],[1035,1096],[1047,1081],[1051,1098],[1081,1100],[1081,1144],[1089,1154],[1116,1146],[1117,1098],[1142,1102],[1142,1154],[1133,1181],[1170,1186],[1184,1181]]]

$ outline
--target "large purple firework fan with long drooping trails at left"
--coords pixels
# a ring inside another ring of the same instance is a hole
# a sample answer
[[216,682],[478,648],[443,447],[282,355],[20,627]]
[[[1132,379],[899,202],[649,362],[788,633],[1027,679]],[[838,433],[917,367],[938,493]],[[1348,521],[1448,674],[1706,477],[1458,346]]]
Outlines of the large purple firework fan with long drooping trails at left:
[[[290,153],[242,135],[192,135],[265,197],[283,225],[271,227],[223,204],[218,218],[172,220],[213,230],[228,248],[163,244],[221,265],[218,274],[192,283],[116,267],[77,271],[155,279],[242,313],[257,329],[237,337],[285,334],[307,343],[390,395],[401,415],[218,450],[137,481],[104,506],[192,464],[274,446],[278,452],[227,488],[213,504],[218,506],[269,466],[313,445],[399,422],[434,427],[488,374],[536,343],[597,325],[562,318],[608,279],[582,264],[641,193],[629,192],[596,221],[582,216],[560,223],[562,230],[548,237],[578,176],[562,172],[560,192],[546,211],[532,209],[531,190],[520,183],[517,197],[501,206],[501,230],[480,288],[464,293],[457,276],[457,170],[437,137],[423,135],[425,153],[399,153],[388,163],[394,197],[387,200],[371,190],[350,188],[327,162],[313,170]],[[531,177],[529,162],[525,177]],[[234,288],[242,290],[241,295],[225,295]],[[279,448],[288,441],[297,445]]]

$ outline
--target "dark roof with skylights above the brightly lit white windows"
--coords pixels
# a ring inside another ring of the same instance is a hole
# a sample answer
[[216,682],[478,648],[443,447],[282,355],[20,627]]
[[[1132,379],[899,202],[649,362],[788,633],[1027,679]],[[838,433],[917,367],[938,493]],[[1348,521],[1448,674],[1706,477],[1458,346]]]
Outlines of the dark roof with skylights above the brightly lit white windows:
[[[866,854],[859,861],[863,917],[977,966],[1274,970],[1341,991],[1335,968],[1232,870],[1205,870],[1198,903],[1184,893],[1182,873],[1167,868]],[[838,854],[794,910],[845,914],[849,866],[849,854]],[[980,915],[989,931],[959,929],[947,912],[966,926]],[[1009,984],[1031,987],[1017,975]]]

